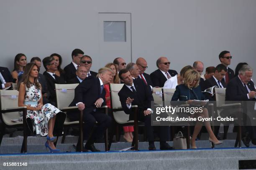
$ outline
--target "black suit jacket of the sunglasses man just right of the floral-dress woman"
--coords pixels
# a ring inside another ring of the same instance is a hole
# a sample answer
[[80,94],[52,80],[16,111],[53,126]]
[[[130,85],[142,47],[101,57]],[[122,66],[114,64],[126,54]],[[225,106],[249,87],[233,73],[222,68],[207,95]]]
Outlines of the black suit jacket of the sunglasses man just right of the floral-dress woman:
[[54,103],[56,105],[56,92],[55,92],[55,85],[54,84],[66,84],[63,77],[58,77],[58,80],[55,80],[48,72],[44,72],[44,77],[46,79],[46,84],[48,87],[48,90],[50,92],[49,100],[51,103]]

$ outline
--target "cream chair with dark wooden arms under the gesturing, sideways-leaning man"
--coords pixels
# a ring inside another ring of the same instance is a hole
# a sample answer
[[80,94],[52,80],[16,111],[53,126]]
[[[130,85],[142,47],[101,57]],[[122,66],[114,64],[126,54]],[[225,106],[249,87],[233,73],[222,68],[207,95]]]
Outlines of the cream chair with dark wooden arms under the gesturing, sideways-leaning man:
[[[134,125],[134,137],[132,146],[134,146],[135,141],[135,150],[138,150],[138,120],[137,120],[137,105],[133,105],[132,109],[135,110],[134,120],[129,120],[129,115],[125,114],[123,107],[121,105],[118,92],[121,90],[124,84],[110,84],[110,101],[111,101],[111,112],[113,113],[113,118],[118,126],[128,126]],[[113,140],[114,132],[110,136],[110,142],[108,149],[111,147]]]

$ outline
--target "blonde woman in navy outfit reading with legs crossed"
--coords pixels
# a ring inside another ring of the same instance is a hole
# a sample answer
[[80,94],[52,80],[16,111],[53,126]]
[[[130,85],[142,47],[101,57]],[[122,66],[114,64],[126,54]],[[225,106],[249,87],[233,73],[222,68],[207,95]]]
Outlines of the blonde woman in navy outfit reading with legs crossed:
[[[180,84],[176,86],[176,90],[174,92],[174,95],[172,97],[172,101],[186,101],[189,105],[197,106],[198,103],[194,100],[205,100],[205,96],[201,92],[201,87],[199,86],[200,81],[200,74],[199,72],[195,70],[187,70],[184,74],[184,84]],[[202,102],[202,106],[205,105],[205,102]],[[197,113],[191,113],[189,115],[191,117],[205,117],[208,118],[208,110],[207,108],[203,107],[202,112]],[[194,133],[191,138],[191,148],[196,149],[195,140],[197,138],[197,135],[200,133],[200,130],[202,128],[202,124],[205,124],[205,128],[207,129],[207,132],[209,134],[209,141],[214,143],[215,145],[219,145],[223,143],[222,141],[219,141],[214,133],[212,132],[211,125],[209,121],[197,121],[194,129]]]

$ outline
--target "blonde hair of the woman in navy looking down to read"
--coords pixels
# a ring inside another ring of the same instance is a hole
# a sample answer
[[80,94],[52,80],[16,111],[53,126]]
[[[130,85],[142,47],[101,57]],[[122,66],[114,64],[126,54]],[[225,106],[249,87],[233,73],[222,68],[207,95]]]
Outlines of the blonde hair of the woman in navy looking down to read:
[[192,88],[189,84],[191,84],[193,81],[197,80],[197,83],[195,84],[194,87],[197,87],[199,85],[200,81],[200,74],[196,70],[187,70],[184,74],[184,85],[186,85],[189,88]]

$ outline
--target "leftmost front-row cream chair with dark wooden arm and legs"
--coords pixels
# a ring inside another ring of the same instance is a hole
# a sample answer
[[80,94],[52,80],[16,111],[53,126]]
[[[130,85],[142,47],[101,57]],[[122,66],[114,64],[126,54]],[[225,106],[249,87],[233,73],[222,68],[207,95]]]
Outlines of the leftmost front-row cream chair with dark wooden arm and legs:
[[[0,118],[3,121],[4,127],[23,127],[23,143],[20,153],[27,153],[27,107],[18,107],[18,94],[19,93],[17,90],[0,90]],[[23,112],[23,122],[14,122],[14,120],[18,120],[20,118],[20,111]],[[4,135],[4,128],[0,131],[2,131],[2,133],[0,134],[1,145],[2,138]]]

